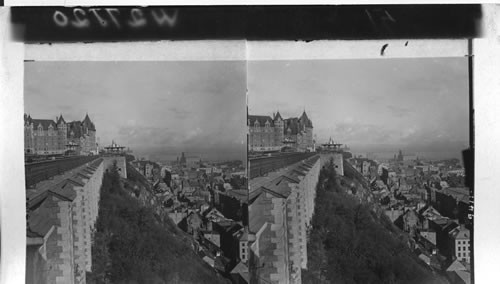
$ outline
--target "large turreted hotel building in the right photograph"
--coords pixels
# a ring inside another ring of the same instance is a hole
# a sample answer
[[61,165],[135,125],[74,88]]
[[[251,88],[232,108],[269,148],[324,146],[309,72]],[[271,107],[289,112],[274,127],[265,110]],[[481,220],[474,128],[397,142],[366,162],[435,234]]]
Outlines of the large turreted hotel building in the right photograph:
[[283,119],[273,116],[249,115],[250,151],[275,151],[290,146],[298,151],[314,149],[312,121],[304,111],[302,115]]

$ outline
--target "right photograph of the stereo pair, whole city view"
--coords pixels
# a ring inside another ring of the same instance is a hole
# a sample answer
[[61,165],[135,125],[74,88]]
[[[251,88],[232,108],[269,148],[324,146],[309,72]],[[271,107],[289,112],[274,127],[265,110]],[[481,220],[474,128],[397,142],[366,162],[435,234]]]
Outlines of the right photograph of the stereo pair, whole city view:
[[471,283],[468,63],[248,61],[251,283]]

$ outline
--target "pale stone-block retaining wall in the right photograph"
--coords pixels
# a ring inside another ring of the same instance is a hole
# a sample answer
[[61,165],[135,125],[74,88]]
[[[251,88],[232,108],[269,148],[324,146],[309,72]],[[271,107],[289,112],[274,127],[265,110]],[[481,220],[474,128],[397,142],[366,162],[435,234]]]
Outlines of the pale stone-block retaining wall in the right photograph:
[[315,155],[250,180],[251,199],[257,194],[250,205],[250,230],[261,232],[264,226],[270,227],[267,234],[257,233],[251,245],[259,259],[257,277],[266,283],[302,282],[319,171],[320,160]]

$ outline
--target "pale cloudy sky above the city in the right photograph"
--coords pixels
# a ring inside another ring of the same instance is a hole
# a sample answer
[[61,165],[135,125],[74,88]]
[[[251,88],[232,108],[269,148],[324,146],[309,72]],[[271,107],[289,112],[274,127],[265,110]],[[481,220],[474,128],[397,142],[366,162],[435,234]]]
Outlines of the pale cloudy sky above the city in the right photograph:
[[467,59],[250,61],[249,113],[300,116],[317,141],[353,151],[451,152],[468,146]]

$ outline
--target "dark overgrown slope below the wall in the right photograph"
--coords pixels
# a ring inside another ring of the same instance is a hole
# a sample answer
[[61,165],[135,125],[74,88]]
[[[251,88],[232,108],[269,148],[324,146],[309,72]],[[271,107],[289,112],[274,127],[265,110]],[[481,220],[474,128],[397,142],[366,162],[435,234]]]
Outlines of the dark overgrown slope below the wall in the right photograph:
[[447,283],[411,253],[387,219],[359,202],[359,192],[368,191],[360,186],[356,177],[336,176],[332,165],[321,170],[303,283]]

